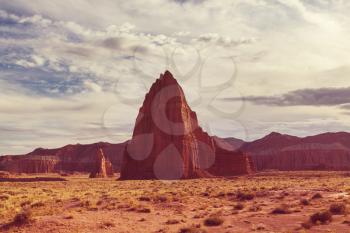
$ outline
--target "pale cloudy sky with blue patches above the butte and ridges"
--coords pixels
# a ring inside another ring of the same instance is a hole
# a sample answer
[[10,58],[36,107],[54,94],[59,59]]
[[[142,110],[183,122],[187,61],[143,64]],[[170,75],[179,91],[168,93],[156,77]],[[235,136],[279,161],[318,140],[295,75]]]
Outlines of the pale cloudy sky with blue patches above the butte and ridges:
[[131,137],[170,70],[212,135],[350,131],[346,0],[0,0],[0,154]]

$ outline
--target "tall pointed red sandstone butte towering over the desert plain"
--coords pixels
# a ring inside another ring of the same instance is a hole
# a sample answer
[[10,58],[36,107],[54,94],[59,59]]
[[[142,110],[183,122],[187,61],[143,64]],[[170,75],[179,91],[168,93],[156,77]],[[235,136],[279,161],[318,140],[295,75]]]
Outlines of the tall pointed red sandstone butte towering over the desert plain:
[[169,71],[161,74],[139,110],[120,179],[174,180],[254,171],[249,155],[203,131],[176,79]]

